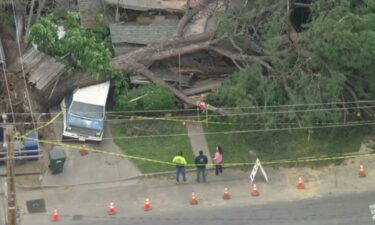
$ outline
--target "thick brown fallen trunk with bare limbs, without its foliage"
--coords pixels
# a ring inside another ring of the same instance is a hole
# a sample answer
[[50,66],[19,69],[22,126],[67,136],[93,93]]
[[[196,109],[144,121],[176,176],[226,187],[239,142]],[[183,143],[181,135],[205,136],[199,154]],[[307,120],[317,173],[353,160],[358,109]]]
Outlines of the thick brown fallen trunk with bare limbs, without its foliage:
[[[194,9],[188,9],[187,15],[180,21],[180,24],[177,29],[177,37],[175,39],[166,41],[160,44],[150,45],[144,48],[140,48],[136,51],[130,52],[128,54],[120,55],[112,59],[111,65],[119,70],[121,70],[124,75],[132,74],[132,73],[139,73],[150,79],[157,85],[164,86],[169,88],[178,99],[180,99],[187,107],[196,107],[197,102],[195,100],[187,97],[182,92],[174,88],[172,85],[169,85],[164,80],[160,79],[159,77],[155,76],[148,69],[150,65],[154,62],[162,61],[162,60],[170,60],[176,58],[178,56],[183,56],[184,61],[188,62],[193,67],[197,67],[198,69],[204,69],[206,66],[200,64],[197,61],[189,60],[188,56],[192,53],[197,52],[216,52],[216,54],[222,55],[239,63],[253,63],[262,61],[262,63],[268,69],[271,69],[271,66],[265,62],[267,57],[258,57],[258,56],[247,56],[237,53],[232,53],[230,51],[215,47],[218,43],[220,43],[224,38],[214,38],[214,33],[212,32],[204,32],[198,35],[193,35],[189,37],[183,37],[183,30],[186,24],[188,24],[189,20],[201,9],[204,9],[209,4],[210,0],[200,0],[199,4]],[[39,18],[41,9],[44,6],[45,1],[41,0],[37,18]],[[222,67],[222,68],[209,68],[206,67],[207,71],[211,71],[213,73],[219,74],[221,73],[231,73],[236,68],[234,66],[229,67]],[[31,112],[31,111],[45,111],[50,106],[59,103],[64,96],[66,96],[69,92],[73,91],[77,87],[88,86],[96,83],[102,82],[104,79],[101,80],[93,80],[89,76],[82,76],[82,75],[74,75],[70,77],[62,78],[59,83],[57,84],[56,88],[49,88],[43,92],[37,91],[33,88],[30,90],[30,99],[32,99],[34,105],[32,109],[24,107],[21,112]],[[14,81],[16,82],[16,81]],[[19,81],[20,82],[20,81]],[[12,91],[16,94],[14,98],[14,102],[20,101],[20,96],[24,96],[24,93],[17,89],[19,85],[14,85]],[[53,90],[52,90],[53,89]],[[13,100],[13,99],[12,99]],[[23,99],[24,100],[24,99]],[[222,110],[217,109],[213,106],[209,107],[210,110],[223,113]]]

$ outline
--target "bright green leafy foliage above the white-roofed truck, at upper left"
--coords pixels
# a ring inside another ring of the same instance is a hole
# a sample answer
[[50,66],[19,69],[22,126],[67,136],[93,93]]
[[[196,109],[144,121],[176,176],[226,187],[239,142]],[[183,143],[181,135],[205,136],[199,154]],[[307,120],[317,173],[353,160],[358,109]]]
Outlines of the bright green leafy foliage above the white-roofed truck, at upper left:
[[[63,26],[66,32],[61,39],[57,35],[58,26]],[[95,78],[101,74],[113,77],[119,72],[109,64],[112,54],[105,43],[106,36],[107,29],[85,29],[80,25],[80,14],[68,12],[63,20],[55,19],[53,14],[43,17],[31,27],[28,40],[41,51],[64,58],[63,62],[68,66],[88,72]]]

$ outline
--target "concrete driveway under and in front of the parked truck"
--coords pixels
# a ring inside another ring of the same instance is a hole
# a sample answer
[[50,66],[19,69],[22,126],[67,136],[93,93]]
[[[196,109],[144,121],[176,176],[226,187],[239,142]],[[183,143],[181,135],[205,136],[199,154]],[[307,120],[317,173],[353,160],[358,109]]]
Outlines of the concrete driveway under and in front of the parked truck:
[[[56,108],[52,113],[59,112]],[[62,116],[54,123],[53,128],[56,140],[61,143],[62,137]],[[113,143],[112,135],[108,124],[105,126],[104,140],[100,143],[86,143],[90,149],[97,149],[108,153],[121,154],[121,149]],[[89,152],[86,156],[81,156],[78,149],[70,146],[82,146],[82,142],[76,140],[64,140],[64,146],[55,146],[55,149],[63,149],[66,154],[66,162],[63,172],[52,175],[46,170],[42,180],[42,186],[61,186],[92,184],[110,181],[126,180],[140,176],[140,171],[134,164],[124,157],[113,156],[104,153]]]

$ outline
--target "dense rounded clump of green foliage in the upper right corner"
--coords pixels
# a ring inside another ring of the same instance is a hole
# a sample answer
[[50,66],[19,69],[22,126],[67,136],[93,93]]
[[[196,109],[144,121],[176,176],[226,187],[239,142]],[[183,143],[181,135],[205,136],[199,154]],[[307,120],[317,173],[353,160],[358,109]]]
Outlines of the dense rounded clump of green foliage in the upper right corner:
[[[373,1],[342,0],[330,7],[315,8],[314,23],[308,26],[302,47],[312,53],[311,66],[324,66],[325,74],[341,74],[357,98],[374,97],[375,8]],[[321,69],[320,69],[321,70]],[[372,87],[372,88],[371,88]],[[353,96],[346,94],[347,99]]]

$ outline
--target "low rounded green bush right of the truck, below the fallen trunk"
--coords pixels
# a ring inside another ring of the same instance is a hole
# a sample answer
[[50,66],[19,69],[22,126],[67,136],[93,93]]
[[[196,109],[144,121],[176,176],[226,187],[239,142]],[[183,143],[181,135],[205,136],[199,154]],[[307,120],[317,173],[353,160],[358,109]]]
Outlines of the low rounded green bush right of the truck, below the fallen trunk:
[[121,111],[167,110],[177,106],[176,98],[165,87],[144,85],[116,97],[116,109]]

